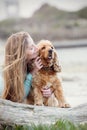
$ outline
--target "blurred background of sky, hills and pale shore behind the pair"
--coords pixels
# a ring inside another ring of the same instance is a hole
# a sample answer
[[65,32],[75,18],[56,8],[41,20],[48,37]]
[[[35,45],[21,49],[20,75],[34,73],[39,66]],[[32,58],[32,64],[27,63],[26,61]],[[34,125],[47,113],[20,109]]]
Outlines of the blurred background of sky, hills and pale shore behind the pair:
[[85,103],[87,0],[0,0],[0,81],[6,40],[18,31],[29,32],[35,43],[41,39],[53,42],[67,101],[71,106]]

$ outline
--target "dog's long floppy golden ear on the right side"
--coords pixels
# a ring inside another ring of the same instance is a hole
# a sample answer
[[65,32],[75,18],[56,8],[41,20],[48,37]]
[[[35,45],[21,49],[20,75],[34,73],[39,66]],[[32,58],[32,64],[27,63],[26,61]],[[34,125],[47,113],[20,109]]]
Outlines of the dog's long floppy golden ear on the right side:
[[54,50],[54,62],[53,62],[53,69],[55,72],[61,72],[61,66],[59,65],[58,56],[56,50]]

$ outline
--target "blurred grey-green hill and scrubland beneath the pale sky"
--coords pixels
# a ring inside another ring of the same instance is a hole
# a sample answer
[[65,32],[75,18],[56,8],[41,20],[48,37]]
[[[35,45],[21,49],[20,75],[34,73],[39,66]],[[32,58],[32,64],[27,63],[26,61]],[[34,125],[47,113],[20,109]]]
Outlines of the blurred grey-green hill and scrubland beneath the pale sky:
[[[78,22],[75,22],[76,19],[78,19]],[[33,14],[31,18],[8,18],[0,21],[0,38],[6,39],[12,33],[26,30],[29,34],[33,35],[33,38],[36,41],[43,39],[43,37],[54,41],[59,40],[59,38],[73,39],[79,38],[78,32],[81,27],[83,27],[81,28],[81,38],[86,38],[86,34],[83,34],[83,29],[87,27],[87,22],[82,22],[82,19],[87,20],[87,7],[76,12],[68,12],[59,10],[54,6],[44,4]],[[80,23],[82,26],[80,26]],[[78,29],[77,36],[75,34],[72,36],[72,29],[75,27]],[[58,29],[60,29],[60,33],[58,33]],[[64,34],[62,35],[63,29]],[[68,34],[67,29],[70,31],[69,35],[66,35]]]

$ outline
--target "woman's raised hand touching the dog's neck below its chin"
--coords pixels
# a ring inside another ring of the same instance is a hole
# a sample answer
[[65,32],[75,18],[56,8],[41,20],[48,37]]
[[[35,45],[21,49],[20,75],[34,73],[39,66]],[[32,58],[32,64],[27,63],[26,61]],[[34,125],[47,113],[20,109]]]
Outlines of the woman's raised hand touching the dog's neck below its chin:
[[43,67],[40,57],[37,57],[34,61],[34,69],[31,74],[35,74],[38,70]]

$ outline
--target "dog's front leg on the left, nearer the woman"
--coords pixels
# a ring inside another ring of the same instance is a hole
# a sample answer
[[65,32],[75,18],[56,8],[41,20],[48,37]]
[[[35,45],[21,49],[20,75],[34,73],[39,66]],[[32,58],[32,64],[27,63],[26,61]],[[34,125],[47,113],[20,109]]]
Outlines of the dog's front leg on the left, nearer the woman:
[[34,104],[38,106],[43,105],[43,95],[39,88],[34,88]]

